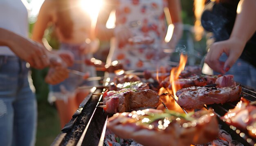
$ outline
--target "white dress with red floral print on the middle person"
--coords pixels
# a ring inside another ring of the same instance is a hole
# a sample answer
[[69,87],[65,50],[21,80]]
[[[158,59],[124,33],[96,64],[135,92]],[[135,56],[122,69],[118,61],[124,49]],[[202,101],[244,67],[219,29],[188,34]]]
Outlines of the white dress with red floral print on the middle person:
[[155,64],[159,60],[168,60],[168,56],[159,59],[160,46],[167,31],[164,7],[167,7],[166,0],[119,0],[116,27],[125,25],[134,36],[149,36],[154,42],[121,46],[114,41],[115,45],[110,47],[108,58],[111,61],[118,60],[128,70],[156,69]]

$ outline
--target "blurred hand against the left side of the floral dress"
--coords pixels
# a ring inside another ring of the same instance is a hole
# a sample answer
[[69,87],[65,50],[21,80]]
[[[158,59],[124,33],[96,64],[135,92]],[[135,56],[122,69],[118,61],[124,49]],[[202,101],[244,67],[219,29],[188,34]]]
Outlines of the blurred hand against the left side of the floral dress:
[[128,43],[128,39],[132,38],[130,29],[126,26],[120,26],[115,28],[115,38],[119,42],[119,46],[124,46]]

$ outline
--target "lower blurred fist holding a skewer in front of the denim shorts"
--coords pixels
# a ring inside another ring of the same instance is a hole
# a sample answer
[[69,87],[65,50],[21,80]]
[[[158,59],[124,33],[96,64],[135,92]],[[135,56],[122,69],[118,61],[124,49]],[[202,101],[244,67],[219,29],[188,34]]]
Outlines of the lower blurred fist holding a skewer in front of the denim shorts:
[[50,67],[45,82],[48,84],[58,84],[63,82],[69,75],[68,69],[65,66],[54,66]]

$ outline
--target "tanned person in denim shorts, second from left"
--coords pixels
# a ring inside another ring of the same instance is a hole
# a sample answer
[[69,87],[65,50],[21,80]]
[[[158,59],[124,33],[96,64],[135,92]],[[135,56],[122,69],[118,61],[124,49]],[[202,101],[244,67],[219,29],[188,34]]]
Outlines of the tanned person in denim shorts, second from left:
[[[45,0],[34,24],[32,39],[43,44],[44,32],[52,26],[60,42],[59,51],[71,51],[76,61],[90,60],[98,49],[99,41],[93,37],[90,15],[81,2],[82,0]],[[69,69],[96,76],[94,66],[85,63],[74,64]],[[64,82],[50,86],[49,101],[55,101],[62,128],[88,95],[88,89],[77,88],[85,85],[95,86],[97,82],[85,81],[83,76],[70,73]]]

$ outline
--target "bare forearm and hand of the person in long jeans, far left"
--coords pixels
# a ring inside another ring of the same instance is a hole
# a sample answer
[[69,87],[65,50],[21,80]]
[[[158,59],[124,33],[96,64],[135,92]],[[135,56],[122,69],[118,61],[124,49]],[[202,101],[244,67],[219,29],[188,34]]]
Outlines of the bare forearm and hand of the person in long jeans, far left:
[[12,31],[0,28],[0,46],[8,46],[18,57],[37,69],[43,69],[49,65],[47,49],[44,46]]

